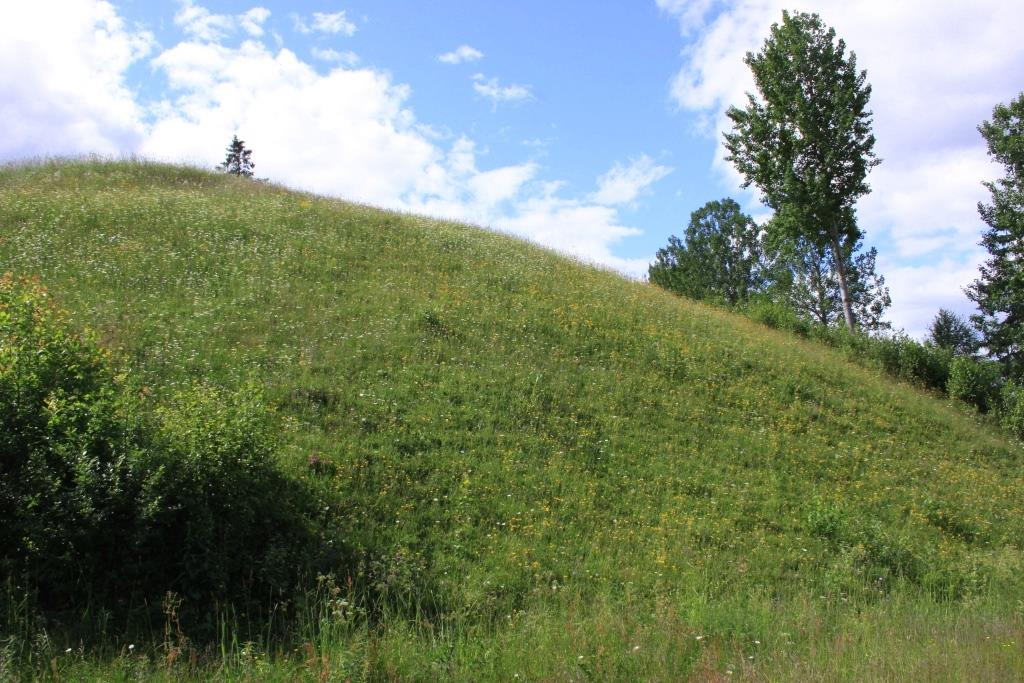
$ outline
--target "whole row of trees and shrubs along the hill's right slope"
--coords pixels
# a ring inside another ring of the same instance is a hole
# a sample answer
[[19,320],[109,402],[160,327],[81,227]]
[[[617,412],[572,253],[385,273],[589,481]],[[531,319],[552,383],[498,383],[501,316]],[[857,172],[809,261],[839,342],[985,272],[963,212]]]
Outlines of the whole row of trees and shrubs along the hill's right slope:
[[979,312],[968,321],[939,310],[920,344],[884,319],[889,290],[857,223],[856,201],[881,160],[856,54],[817,14],[783,11],[744,62],[757,94],[727,112],[726,160],[772,217],[759,225],[731,199],[708,202],[683,239],[658,250],[650,282],[775,327],[813,329],[896,374],[1000,411],[1024,432],[1024,93],[978,128],[1006,172],[985,183],[991,201],[978,206],[989,257],[966,293]]

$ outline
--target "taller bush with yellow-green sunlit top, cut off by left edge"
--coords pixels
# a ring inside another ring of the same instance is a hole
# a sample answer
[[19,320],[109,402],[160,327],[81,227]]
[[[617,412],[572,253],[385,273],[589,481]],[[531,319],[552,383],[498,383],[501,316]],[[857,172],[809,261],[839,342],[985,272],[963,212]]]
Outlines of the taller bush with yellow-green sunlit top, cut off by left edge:
[[68,333],[42,287],[9,273],[0,278],[0,575],[29,572],[59,603],[118,548],[139,454],[104,352]]

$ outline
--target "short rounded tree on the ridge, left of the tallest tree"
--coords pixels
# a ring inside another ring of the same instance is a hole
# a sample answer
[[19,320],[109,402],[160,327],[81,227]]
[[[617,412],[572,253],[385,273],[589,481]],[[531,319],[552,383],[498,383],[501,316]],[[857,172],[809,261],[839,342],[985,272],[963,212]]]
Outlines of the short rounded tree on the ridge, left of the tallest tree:
[[690,214],[685,242],[672,236],[648,270],[650,282],[694,299],[735,305],[762,283],[759,228],[731,199]]

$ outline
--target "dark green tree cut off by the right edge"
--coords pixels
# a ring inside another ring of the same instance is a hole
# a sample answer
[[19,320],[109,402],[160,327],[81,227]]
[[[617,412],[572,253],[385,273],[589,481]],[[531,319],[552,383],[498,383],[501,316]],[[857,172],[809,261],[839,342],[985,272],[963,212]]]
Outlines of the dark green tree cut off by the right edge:
[[973,315],[982,344],[1015,379],[1024,378],[1024,92],[1010,104],[999,104],[992,120],[978,127],[988,155],[1002,165],[1006,175],[986,182],[990,204],[978,204],[988,225],[981,245],[988,260],[967,294],[978,304]]

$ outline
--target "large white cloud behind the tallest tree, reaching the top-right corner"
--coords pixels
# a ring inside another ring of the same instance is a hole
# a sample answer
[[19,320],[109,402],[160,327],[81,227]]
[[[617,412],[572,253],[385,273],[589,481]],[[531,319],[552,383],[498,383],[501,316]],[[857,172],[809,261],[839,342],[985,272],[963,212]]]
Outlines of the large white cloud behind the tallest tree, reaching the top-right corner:
[[[672,96],[719,140],[713,167],[723,184],[734,187],[739,177],[723,161],[721,133],[729,128],[724,112],[730,104],[743,105],[744,93],[754,91],[743,54],[761,48],[788,4],[656,2],[679,16],[684,36],[695,32],[683,49]],[[873,191],[858,206],[868,240],[880,246],[883,260],[887,253],[902,259],[889,262],[892,272],[909,267],[902,265],[908,258],[974,263],[982,229],[975,206],[985,197],[981,181],[999,175],[976,128],[996,103],[1020,91],[1024,42],[1018,27],[1024,26],[1024,5],[812,0],[802,9],[819,13],[836,29],[872,86],[876,152],[883,164],[868,176]],[[923,267],[914,266],[913,272],[931,272]],[[937,301],[912,287],[909,275],[880,270],[891,285],[891,317],[897,326],[924,329],[935,311],[923,318],[923,301],[952,309],[967,305],[959,285],[937,287],[948,297]]]

